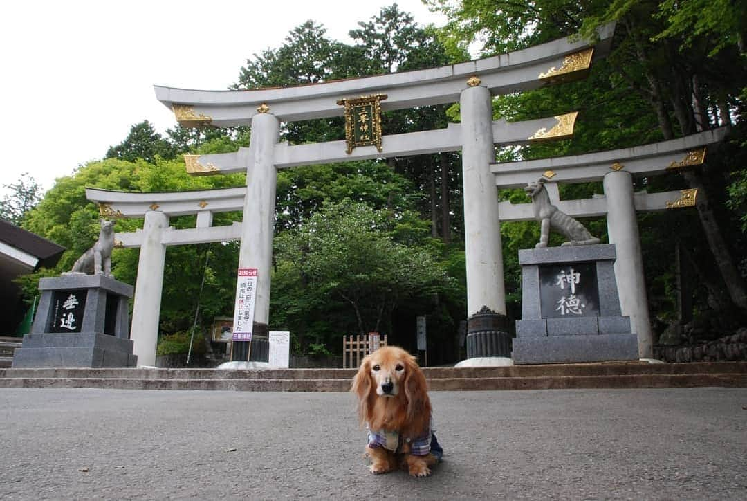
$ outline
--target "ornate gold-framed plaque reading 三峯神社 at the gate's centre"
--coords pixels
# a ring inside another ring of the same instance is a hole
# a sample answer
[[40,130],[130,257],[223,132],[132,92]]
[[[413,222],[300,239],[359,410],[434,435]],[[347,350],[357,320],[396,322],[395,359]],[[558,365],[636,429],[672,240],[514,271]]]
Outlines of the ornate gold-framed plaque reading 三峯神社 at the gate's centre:
[[345,152],[350,155],[358,146],[375,146],[382,151],[381,104],[386,94],[339,99],[337,104],[345,106]]

